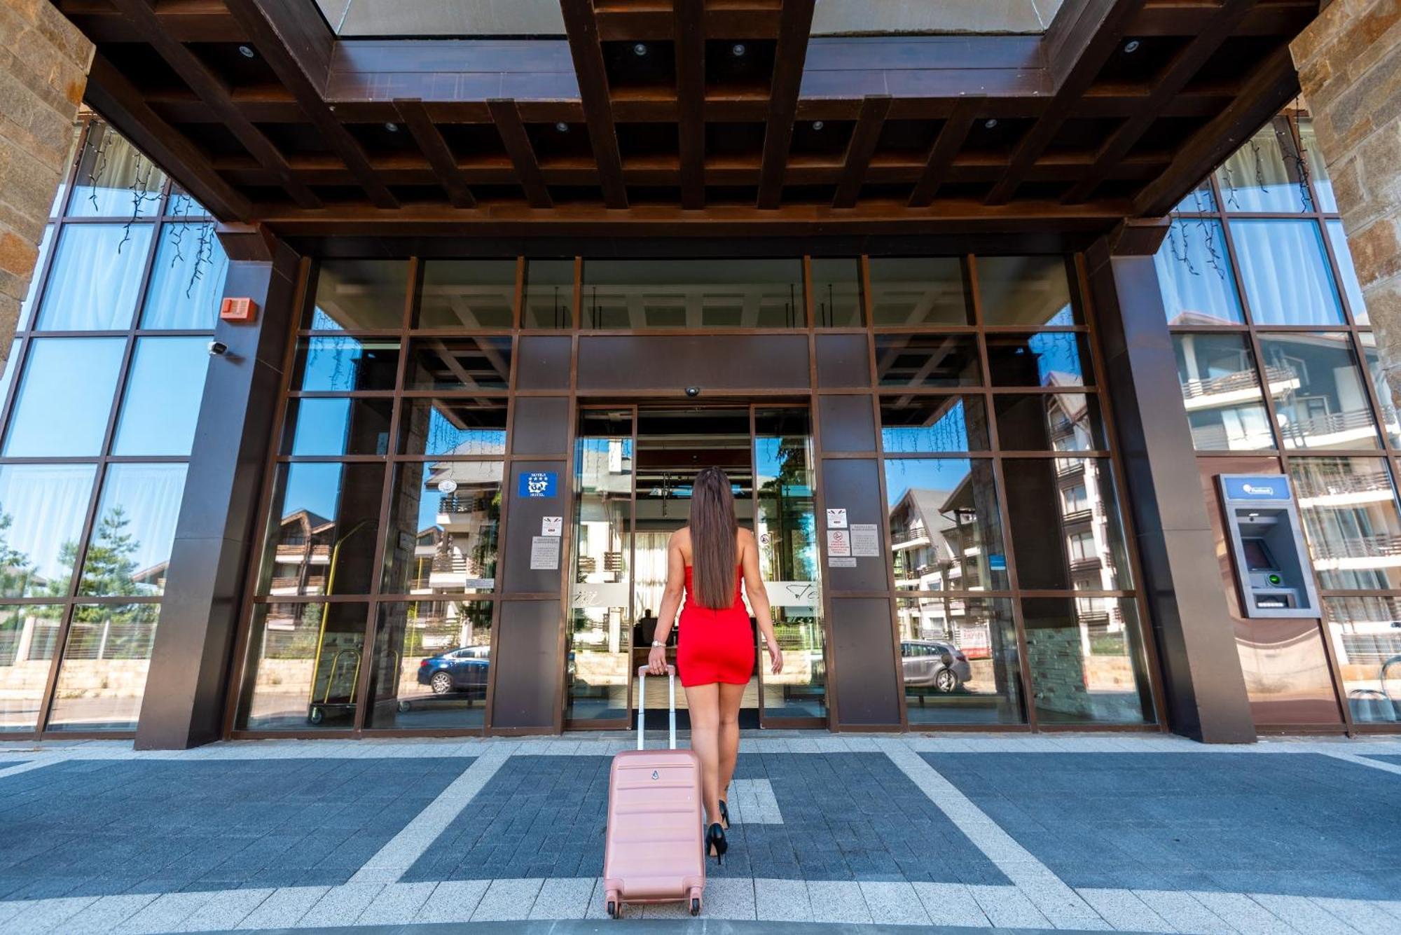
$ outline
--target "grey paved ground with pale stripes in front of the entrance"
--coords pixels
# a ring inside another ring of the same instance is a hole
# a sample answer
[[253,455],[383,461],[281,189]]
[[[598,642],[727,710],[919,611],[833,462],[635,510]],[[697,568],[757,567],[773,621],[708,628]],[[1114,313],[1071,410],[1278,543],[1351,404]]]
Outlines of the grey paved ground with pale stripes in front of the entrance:
[[[597,873],[629,746],[0,743],[0,932],[611,931]],[[647,931],[1401,934],[1401,740],[741,750],[703,917],[629,907]]]

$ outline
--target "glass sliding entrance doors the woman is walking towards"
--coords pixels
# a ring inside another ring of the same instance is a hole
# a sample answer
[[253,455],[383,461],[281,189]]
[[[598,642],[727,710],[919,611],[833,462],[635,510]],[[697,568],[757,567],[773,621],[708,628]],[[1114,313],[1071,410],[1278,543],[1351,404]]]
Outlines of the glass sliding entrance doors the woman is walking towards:
[[[686,525],[691,480],[719,466],[736,516],[759,540],[761,571],[785,666],[768,672],[755,626],[755,673],[743,726],[821,726],[825,638],[818,581],[810,416],[804,406],[584,409],[574,444],[574,550],[566,662],[570,728],[630,722],[632,673],[647,659],[667,577],[667,540]],[[668,658],[675,659],[672,627]],[[678,721],[686,724],[685,698]],[[665,718],[665,682],[647,683],[649,724]]]

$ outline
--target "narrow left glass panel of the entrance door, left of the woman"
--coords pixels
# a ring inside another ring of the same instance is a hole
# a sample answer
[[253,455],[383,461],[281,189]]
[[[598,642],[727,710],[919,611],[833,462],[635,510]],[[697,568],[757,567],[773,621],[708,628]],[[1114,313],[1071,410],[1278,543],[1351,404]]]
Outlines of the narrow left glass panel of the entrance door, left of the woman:
[[[628,717],[633,619],[640,644],[657,619],[632,598],[632,416],[586,410],[574,441],[574,574],[569,595],[565,717]],[[639,598],[640,600],[640,598]],[[675,633],[675,630],[672,630]],[[668,659],[674,662],[675,659]],[[644,659],[637,661],[642,665]]]

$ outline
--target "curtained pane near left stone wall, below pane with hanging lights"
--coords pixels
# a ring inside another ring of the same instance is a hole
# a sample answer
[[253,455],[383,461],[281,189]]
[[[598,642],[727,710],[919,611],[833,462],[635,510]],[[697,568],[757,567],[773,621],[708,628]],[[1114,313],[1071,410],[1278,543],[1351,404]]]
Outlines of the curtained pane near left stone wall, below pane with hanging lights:
[[64,225],[39,300],[36,328],[45,332],[130,328],[153,230],[150,224]]

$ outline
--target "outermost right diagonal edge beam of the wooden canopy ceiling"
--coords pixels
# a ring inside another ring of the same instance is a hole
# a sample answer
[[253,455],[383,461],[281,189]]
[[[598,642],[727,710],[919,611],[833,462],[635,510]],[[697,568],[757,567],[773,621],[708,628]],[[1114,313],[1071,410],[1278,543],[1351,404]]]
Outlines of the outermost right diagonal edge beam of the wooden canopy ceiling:
[[1177,151],[1171,165],[1133,199],[1138,217],[1161,217],[1299,94],[1299,73],[1281,45],[1255,69],[1240,97]]

